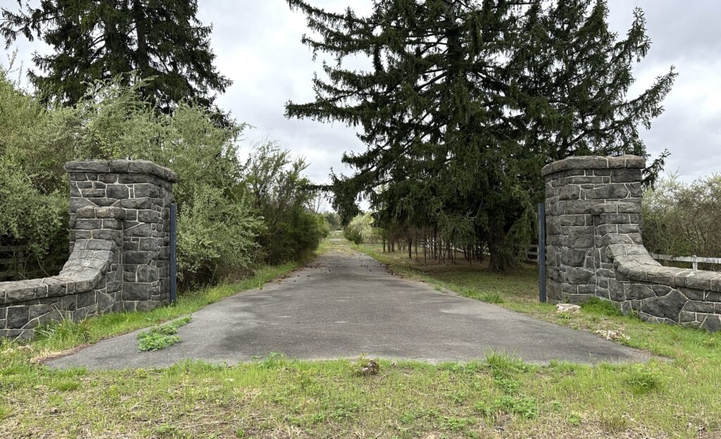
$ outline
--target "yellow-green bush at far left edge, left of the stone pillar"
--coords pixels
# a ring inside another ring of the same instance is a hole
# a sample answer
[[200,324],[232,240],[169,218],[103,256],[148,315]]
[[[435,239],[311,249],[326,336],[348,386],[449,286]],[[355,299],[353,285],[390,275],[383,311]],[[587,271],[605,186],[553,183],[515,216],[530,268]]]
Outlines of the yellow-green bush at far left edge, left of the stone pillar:
[[[44,258],[68,255],[68,183],[63,162],[73,160],[68,110],[47,111],[17,90],[0,68],[0,245],[27,248],[18,277]],[[1,271],[1,270],[0,270]]]

